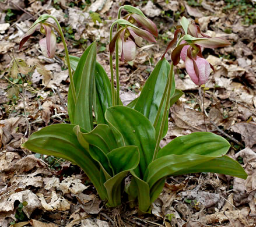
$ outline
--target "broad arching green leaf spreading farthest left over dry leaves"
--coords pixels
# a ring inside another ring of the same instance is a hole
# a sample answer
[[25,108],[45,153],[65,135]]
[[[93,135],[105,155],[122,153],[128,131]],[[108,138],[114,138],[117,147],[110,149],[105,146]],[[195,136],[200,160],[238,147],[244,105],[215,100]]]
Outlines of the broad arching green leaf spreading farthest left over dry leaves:
[[75,133],[73,133],[73,127],[75,125],[69,124],[56,124],[44,127],[38,132],[33,133],[22,146],[33,152],[54,155],[79,165],[96,187],[101,199],[106,200],[100,184],[99,165],[80,146]]

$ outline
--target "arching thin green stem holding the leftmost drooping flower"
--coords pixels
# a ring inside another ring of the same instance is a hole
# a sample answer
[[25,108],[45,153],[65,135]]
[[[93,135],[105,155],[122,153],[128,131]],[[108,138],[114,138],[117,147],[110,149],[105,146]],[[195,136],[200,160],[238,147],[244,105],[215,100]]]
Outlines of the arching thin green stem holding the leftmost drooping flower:
[[50,15],[49,17],[54,19],[55,23],[57,24],[59,34],[61,36],[61,41],[63,42],[63,45],[64,45],[65,55],[66,55],[66,64],[68,65],[68,74],[69,74],[69,78],[70,78],[71,91],[72,91],[72,95],[73,95],[73,100],[76,103],[76,90],[75,90],[75,84],[73,81],[73,75],[72,75],[72,70],[71,70],[69,54],[68,54],[68,47],[66,46],[66,40],[65,40],[64,34],[61,29],[61,25],[59,24],[58,20],[54,16]]

